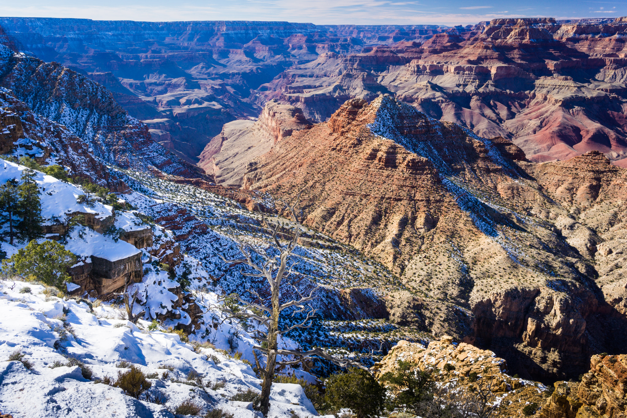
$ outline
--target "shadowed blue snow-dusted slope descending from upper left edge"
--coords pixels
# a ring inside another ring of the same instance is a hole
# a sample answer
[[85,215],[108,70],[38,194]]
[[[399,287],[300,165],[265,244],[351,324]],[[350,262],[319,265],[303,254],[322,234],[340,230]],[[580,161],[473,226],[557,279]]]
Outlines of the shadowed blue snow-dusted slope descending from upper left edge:
[[[12,54],[3,62],[0,85],[23,102],[19,106],[32,111],[27,122],[36,125],[34,119],[44,117],[63,123],[57,130],[65,130],[66,136],[79,137],[85,145],[75,145],[77,149],[72,150],[73,154],[83,154],[80,157],[87,159],[89,165],[95,164],[93,157],[96,157],[120,167],[146,170],[153,166],[172,174],[199,176],[194,167],[155,144],[146,126],[129,117],[107,89],[80,73],[58,63]],[[93,156],[85,152],[86,145]],[[63,143],[55,146],[63,147]],[[63,147],[65,154],[70,152],[68,147],[71,145]],[[102,167],[98,169],[102,170]]]

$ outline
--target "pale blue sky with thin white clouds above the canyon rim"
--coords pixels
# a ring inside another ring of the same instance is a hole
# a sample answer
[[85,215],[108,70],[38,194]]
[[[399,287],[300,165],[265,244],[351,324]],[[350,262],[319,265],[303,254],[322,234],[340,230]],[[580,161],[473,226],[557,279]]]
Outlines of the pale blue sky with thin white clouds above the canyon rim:
[[627,16],[627,0],[0,0],[0,14],[134,21],[268,20],[453,26],[495,18],[615,18]]

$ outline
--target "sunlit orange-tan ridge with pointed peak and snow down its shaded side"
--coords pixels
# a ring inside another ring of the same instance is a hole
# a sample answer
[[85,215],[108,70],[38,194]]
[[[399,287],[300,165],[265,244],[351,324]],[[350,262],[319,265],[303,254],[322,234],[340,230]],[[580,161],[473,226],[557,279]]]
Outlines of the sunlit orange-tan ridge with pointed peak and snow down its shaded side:
[[349,100],[248,171],[245,188],[302,190],[305,224],[401,276],[414,295],[387,300],[398,323],[466,338],[546,380],[627,343],[603,332],[627,329],[622,255],[608,258],[610,246],[621,253],[627,173],[600,152],[533,164],[504,138],[382,96]]

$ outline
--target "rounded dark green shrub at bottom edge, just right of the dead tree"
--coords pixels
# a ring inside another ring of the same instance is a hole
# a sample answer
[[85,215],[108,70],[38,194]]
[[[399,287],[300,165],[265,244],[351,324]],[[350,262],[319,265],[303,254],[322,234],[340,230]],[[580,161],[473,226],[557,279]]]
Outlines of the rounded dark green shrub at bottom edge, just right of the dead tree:
[[350,408],[357,418],[380,415],[386,399],[386,388],[366,370],[350,368],[345,374],[325,380],[325,399],[334,409]]

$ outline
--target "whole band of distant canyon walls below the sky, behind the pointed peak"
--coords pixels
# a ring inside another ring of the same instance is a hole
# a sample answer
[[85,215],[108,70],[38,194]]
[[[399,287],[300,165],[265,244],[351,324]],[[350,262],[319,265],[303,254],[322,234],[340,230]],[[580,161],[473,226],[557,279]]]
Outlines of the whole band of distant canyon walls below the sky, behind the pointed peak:
[[621,18],[453,28],[2,18],[0,26],[19,50],[106,86],[192,164],[224,123],[255,120],[273,98],[324,122],[345,100],[381,93],[510,139],[534,162],[594,149],[627,164]]

